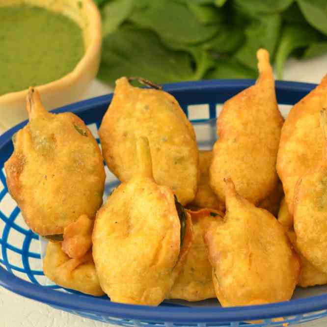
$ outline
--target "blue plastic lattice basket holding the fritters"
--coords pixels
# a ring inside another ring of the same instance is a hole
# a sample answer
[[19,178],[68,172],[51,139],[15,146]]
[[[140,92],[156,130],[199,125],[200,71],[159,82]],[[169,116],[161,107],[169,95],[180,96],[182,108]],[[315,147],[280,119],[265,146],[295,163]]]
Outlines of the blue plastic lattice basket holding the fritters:
[[[210,124],[216,118],[219,104],[253,83],[253,80],[183,82],[166,84],[164,90],[174,95],[191,121],[201,127],[201,124]],[[314,87],[314,84],[307,83],[276,82],[278,103],[293,105]],[[112,95],[106,95],[54,112],[75,112],[97,135],[111,98]],[[202,106],[199,108],[194,105]],[[19,208],[8,194],[3,169],[3,164],[13,151],[11,136],[25,124],[26,122],[21,123],[0,136],[1,286],[55,308],[120,326],[288,326],[327,316],[327,287],[297,291],[300,299],[287,302],[221,308],[214,300],[197,304],[164,301],[158,307],[119,304],[110,302],[107,297],[95,298],[58,286],[46,286],[41,269],[38,236],[27,228]],[[215,131],[211,129],[205,138],[199,140],[199,146],[210,147],[214,140]],[[107,184],[106,193],[116,184],[116,181]],[[275,319],[278,317],[282,318]]]

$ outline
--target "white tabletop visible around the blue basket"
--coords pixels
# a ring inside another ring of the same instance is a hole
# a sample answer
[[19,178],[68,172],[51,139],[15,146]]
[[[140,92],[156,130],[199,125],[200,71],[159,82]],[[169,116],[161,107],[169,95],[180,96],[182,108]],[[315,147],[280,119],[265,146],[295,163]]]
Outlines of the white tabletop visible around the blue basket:
[[[319,83],[327,74],[327,55],[306,61],[291,59],[284,70],[284,80]],[[111,92],[107,85],[94,81],[82,99]],[[82,100],[81,99],[81,100]],[[0,130],[0,134],[4,131]],[[56,310],[43,303],[29,300],[0,288],[0,327],[105,327],[92,321]],[[327,318],[299,326],[326,327]]]

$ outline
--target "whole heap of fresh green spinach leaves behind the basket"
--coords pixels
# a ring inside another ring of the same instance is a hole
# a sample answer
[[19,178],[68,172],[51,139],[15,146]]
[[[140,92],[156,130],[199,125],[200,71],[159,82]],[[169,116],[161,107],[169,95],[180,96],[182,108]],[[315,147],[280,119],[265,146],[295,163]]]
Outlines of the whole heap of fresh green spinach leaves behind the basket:
[[266,48],[282,79],[290,56],[327,53],[326,0],[95,0],[103,20],[98,78],[154,82],[256,78]]

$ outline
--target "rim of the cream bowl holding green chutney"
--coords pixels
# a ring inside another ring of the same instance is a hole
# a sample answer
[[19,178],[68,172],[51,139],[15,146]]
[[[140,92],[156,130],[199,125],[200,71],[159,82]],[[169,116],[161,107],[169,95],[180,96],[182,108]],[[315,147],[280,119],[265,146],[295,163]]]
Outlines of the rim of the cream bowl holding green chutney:
[[[82,56],[81,60],[77,63],[75,68],[64,75],[58,80],[36,85],[37,89],[40,93],[48,93],[49,91],[54,91],[54,89],[65,88],[70,84],[73,84],[77,81],[83,74],[84,68],[88,67],[96,58],[97,54],[100,52],[101,43],[102,43],[102,25],[101,25],[101,15],[98,7],[93,2],[93,0],[81,0],[84,8],[83,10],[87,10],[87,17],[89,20],[89,24],[87,24],[88,28],[90,28],[90,35],[92,38],[90,43]],[[9,92],[0,95],[0,104],[1,103],[9,103],[15,101],[17,99],[24,98],[27,94],[28,89],[24,89],[16,92]]]

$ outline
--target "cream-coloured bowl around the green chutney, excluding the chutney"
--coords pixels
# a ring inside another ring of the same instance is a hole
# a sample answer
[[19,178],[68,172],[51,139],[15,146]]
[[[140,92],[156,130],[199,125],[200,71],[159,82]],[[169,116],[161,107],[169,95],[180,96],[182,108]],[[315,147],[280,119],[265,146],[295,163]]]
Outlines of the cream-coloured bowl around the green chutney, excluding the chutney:
[[[22,3],[59,12],[82,28],[85,53],[75,69],[59,80],[37,86],[48,110],[80,100],[100,64],[102,35],[97,6],[92,0],[0,0],[0,7]],[[0,96],[0,128],[6,130],[27,119],[26,95],[27,89]]]

